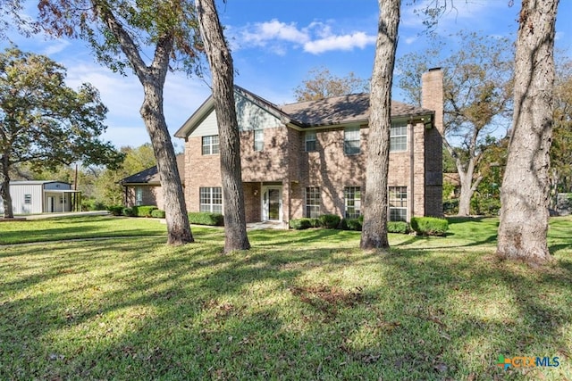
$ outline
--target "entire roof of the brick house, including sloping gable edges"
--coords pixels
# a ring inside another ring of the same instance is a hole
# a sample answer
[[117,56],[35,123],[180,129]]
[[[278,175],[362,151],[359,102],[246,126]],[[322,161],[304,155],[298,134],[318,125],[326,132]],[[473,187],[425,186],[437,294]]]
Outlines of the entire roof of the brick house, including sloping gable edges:
[[[235,86],[235,92],[244,96],[250,102],[257,104],[266,112],[271,113],[280,119],[282,123],[294,125],[299,128],[366,123],[369,120],[369,94],[367,93],[333,96],[317,101],[278,106],[265,100],[261,96],[249,92],[243,87]],[[175,137],[189,137],[200,122],[213,111],[214,100],[213,95],[210,95],[181,128],[175,132]],[[407,118],[433,114],[433,110],[391,101],[392,118]]]

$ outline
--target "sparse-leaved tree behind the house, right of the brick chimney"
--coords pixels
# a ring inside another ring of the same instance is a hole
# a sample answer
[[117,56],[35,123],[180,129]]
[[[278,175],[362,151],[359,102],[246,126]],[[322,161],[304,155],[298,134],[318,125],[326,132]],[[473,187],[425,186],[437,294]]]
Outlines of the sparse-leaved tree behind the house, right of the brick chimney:
[[508,39],[459,32],[457,50],[440,58],[446,43],[406,54],[398,61],[399,86],[421,105],[421,75],[434,66],[443,70],[443,144],[455,163],[460,182],[458,215],[470,213],[471,197],[489,164],[484,160],[491,134],[506,134],[502,123],[512,109],[513,55]]

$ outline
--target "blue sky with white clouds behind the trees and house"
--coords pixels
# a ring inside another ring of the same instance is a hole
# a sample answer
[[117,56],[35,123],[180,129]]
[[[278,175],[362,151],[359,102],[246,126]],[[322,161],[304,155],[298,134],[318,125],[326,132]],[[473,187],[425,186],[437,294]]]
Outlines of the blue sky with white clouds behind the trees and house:
[[[403,0],[398,58],[423,50],[429,38],[422,19],[416,15],[427,0]],[[443,37],[458,30],[491,37],[510,37],[517,31],[520,2],[509,0],[454,0],[441,19],[437,33]],[[294,101],[294,88],[307,79],[309,70],[326,67],[345,76],[353,71],[360,78],[371,77],[374,61],[378,9],[374,0],[227,0],[217,1],[219,16],[231,43],[237,76],[235,82],[274,104]],[[572,57],[572,0],[560,0],[557,47]],[[139,146],[149,141],[139,106],[143,95],[139,81],[124,78],[100,66],[80,40],[22,37],[11,33],[12,41],[24,51],[46,54],[68,70],[68,84],[82,82],[97,87],[109,108],[104,138],[117,147]],[[458,41],[450,37],[449,45]],[[1,43],[3,49],[8,42]],[[438,64],[438,62],[435,62]],[[174,133],[210,94],[205,79],[169,73],[164,88],[164,111]],[[400,99],[399,92],[394,98]],[[173,137],[182,149],[182,141]]]

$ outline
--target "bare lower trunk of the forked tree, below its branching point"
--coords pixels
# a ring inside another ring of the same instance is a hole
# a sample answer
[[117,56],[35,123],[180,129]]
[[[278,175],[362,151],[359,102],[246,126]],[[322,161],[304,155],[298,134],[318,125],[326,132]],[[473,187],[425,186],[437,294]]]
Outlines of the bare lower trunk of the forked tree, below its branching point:
[[177,158],[172,147],[167,123],[164,120],[163,86],[147,81],[143,83],[143,89],[145,98],[140,112],[151,138],[157,171],[163,189],[167,244],[189,244],[194,240],[190,231],[189,215],[181,186]]

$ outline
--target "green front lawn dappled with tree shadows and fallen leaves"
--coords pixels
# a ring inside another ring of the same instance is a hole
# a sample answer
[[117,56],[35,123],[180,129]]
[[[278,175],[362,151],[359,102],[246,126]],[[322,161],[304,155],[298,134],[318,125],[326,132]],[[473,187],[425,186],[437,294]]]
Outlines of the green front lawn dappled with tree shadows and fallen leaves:
[[[3,243],[129,236],[124,219],[13,224]],[[551,220],[556,261],[537,269],[494,258],[497,224],[391,235],[388,254],[310,229],[222,256],[220,228],[173,248],[151,219],[130,219],[137,237],[0,246],[0,379],[571,379],[572,219]]]

